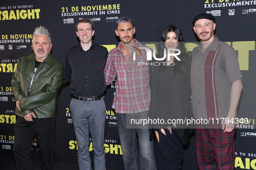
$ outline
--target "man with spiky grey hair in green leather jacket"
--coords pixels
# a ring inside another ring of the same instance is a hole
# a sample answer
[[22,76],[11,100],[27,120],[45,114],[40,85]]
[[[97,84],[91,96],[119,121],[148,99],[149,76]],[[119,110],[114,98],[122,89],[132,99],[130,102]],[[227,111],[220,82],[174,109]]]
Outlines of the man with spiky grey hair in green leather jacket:
[[55,114],[63,66],[50,53],[51,36],[44,26],[35,29],[32,47],[34,53],[20,57],[13,73],[18,115],[13,153],[17,170],[31,170],[31,145],[36,137],[41,170],[52,170]]

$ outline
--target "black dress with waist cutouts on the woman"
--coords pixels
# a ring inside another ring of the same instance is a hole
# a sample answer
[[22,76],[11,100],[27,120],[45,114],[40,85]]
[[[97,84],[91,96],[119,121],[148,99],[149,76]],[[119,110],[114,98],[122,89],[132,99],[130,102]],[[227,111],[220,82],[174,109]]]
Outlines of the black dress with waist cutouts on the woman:
[[[158,81],[157,96],[159,97],[156,104],[155,119],[159,119],[160,123],[154,125],[154,130],[159,134],[159,142],[156,139],[154,145],[158,170],[180,170],[183,159],[182,142],[178,136],[177,129],[173,124],[167,123],[168,119],[173,119],[175,114],[172,110],[171,98],[174,76],[174,67],[166,66],[164,72],[159,72],[156,80]],[[171,127],[172,134],[167,129],[167,126]],[[165,131],[165,134],[161,132],[161,129]]]

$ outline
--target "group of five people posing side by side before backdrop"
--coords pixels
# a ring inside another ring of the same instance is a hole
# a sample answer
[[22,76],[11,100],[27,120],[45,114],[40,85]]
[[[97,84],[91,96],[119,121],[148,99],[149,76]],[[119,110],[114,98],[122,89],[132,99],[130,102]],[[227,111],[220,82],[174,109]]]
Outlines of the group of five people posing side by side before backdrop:
[[[32,41],[34,54],[19,58],[12,81],[18,115],[13,148],[17,169],[31,169],[34,136],[40,147],[41,169],[52,169],[58,89],[62,82],[71,82],[70,110],[78,141],[79,169],[91,169],[90,131],[94,169],[105,170],[104,91],[116,79],[112,107],[117,116],[124,169],[180,170],[182,145],[189,142],[190,127],[178,123],[128,127],[127,120],[194,117],[217,121],[220,117],[230,120],[236,117],[242,90],[237,55],[214,35],[214,16],[201,13],[192,24],[201,43],[191,55],[186,54],[181,30],[169,25],[162,33],[158,53],[148,61],[146,50],[134,52],[146,46],[133,38],[135,27],[131,19],[117,20],[115,32],[120,43],[109,53],[92,40],[92,22],[81,19],[76,24],[80,44],[68,50],[64,74],[62,64],[49,53],[52,47],[49,31],[42,26],[36,28]],[[180,52],[178,57],[176,49]],[[163,64],[152,64],[160,60]],[[200,170],[234,169],[234,124],[224,121],[216,127],[217,124],[193,127]]]

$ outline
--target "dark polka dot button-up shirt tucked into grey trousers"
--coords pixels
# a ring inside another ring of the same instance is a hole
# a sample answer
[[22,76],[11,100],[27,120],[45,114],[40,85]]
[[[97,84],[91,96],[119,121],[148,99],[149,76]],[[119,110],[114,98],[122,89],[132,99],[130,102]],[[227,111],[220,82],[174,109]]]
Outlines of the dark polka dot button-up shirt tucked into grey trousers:
[[104,67],[107,61],[107,48],[95,44],[83,50],[81,44],[67,52],[63,83],[71,81],[71,93],[77,97],[91,97],[103,94],[106,90]]

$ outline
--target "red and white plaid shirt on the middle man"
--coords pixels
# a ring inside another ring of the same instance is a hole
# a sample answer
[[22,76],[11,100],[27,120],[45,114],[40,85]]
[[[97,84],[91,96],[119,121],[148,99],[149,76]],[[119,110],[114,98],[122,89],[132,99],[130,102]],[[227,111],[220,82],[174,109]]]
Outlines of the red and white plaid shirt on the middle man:
[[[136,48],[146,47],[136,39],[133,40]],[[131,54],[128,65],[121,51],[121,42],[108,53],[104,75],[107,85],[117,77],[116,95],[112,105],[117,113],[139,113],[149,110],[149,65],[146,50],[140,51],[142,54],[135,52],[135,60],[133,53]]]

